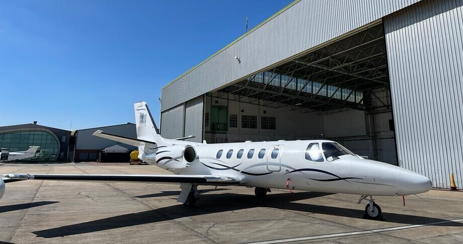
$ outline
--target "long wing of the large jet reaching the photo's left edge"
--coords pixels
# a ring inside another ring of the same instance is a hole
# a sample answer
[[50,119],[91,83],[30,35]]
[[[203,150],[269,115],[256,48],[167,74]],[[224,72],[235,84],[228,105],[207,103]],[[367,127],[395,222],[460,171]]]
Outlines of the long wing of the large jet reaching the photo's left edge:
[[23,180],[58,180],[58,181],[116,181],[116,182],[153,182],[164,184],[190,183],[210,186],[229,186],[240,184],[240,179],[227,176],[207,175],[2,175],[5,183]]

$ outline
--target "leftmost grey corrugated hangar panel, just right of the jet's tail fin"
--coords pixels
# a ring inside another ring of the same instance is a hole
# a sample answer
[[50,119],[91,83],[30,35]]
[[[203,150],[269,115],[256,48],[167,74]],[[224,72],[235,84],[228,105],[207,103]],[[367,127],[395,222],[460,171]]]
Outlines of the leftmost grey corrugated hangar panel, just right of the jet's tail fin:
[[167,139],[183,137],[183,118],[185,104],[162,112],[161,114],[161,135]]

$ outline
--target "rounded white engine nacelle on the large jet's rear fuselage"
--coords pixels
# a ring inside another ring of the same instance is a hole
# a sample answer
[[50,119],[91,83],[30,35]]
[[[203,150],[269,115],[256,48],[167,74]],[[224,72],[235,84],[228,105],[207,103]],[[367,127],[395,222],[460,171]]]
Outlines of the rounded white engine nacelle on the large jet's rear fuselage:
[[157,152],[146,155],[144,161],[156,162],[167,169],[184,169],[196,160],[196,149],[191,145],[174,145],[159,148]]

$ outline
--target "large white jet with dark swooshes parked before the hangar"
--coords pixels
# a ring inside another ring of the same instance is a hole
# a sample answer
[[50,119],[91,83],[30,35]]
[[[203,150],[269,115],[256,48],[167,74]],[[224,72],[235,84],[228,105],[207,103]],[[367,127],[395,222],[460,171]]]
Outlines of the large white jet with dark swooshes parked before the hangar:
[[138,158],[174,175],[32,175],[7,174],[0,181],[21,180],[133,181],[180,184],[177,202],[193,206],[199,185],[255,187],[263,197],[270,188],[361,195],[365,217],[384,219],[372,196],[427,192],[431,181],[415,172],[364,159],[330,140],[263,141],[206,144],[165,139],[145,102],[134,104],[137,138],[96,131],[93,135],[138,146]]

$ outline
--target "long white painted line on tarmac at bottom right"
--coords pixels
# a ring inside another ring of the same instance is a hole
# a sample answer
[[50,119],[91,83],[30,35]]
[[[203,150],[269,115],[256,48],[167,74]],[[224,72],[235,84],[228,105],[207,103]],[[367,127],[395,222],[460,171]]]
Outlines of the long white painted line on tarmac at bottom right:
[[381,233],[385,231],[410,229],[410,228],[417,228],[417,227],[423,227],[423,226],[429,226],[429,225],[444,224],[444,223],[450,223],[450,222],[462,222],[462,221],[463,219],[443,220],[443,221],[437,221],[437,222],[426,223],[426,224],[412,224],[412,225],[404,225],[404,226],[398,226],[398,227],[370,229],[370,230],[364,230],[364,231],[353,231],[353,232],[343,232],[343,233],[334,233],[334,234],[325,234],[325,235],[312,235],[312,236],[287,238],[287,239],[257,241],[257,242],[249,242],[249,244],[273,244],[273,243],[284,243],[284,242],[293,242],[293,241],[343,237],[343,236],[359,235],[359,234]]

